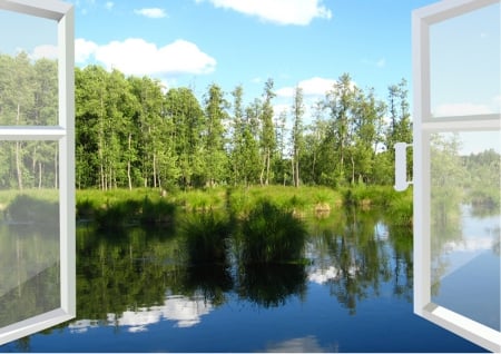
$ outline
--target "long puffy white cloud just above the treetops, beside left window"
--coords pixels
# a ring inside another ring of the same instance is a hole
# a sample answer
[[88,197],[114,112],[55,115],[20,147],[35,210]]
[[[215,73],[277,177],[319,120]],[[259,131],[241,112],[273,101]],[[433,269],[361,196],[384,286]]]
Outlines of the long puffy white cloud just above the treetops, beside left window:
[[141,38],[128,38],[98,46],[86,39],[76,40],[76,61],[94,58],[108,70],[116,68],[126,75],[209,73],[216,60],[195,43],[178,39],[157,47]]

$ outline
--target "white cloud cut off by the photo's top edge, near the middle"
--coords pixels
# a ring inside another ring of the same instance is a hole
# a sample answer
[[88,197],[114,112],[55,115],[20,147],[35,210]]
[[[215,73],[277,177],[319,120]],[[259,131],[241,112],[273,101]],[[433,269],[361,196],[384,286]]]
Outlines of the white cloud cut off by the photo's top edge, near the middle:
[[[203,0],[196,0],[202,2]],[[332,12],[322,0],[208,0],[216,8],[232,9],[277,24],[306,26],[313,19],[331,19]]]

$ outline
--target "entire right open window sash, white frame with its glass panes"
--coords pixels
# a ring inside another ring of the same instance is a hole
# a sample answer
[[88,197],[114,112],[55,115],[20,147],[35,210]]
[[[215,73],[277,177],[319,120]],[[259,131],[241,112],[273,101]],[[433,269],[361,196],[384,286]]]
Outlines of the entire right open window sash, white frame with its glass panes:
[[500,0],[413,12],[414,312],[501,351]]

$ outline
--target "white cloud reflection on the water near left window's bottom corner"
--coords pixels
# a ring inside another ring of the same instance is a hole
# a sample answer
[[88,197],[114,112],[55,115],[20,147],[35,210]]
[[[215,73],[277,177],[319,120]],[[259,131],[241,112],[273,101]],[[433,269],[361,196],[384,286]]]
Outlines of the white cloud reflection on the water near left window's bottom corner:
[[[176,322],[177,327],[191,327],[200,322],[203,315],[213,309],[210,303],[203,297],[188,298],[181,295],[167,296],[164,305],[139,307],[136,311],[126,311],[119,316],[108,314],[107,324],[126,326],[130,333],[148,331],[148,325],[168,319]],[[84,333],[88,328],[101,325],[98,321],[79,319],[68,327],[73,333]]]

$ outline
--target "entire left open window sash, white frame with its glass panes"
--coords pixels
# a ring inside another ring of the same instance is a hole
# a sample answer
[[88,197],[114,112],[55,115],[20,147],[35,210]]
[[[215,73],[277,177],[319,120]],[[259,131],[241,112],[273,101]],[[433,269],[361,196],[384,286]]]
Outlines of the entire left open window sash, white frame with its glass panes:
[[76,314],[72,11],[0,0],[0,345]]

